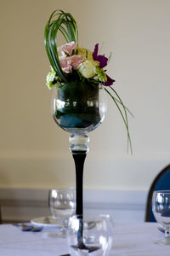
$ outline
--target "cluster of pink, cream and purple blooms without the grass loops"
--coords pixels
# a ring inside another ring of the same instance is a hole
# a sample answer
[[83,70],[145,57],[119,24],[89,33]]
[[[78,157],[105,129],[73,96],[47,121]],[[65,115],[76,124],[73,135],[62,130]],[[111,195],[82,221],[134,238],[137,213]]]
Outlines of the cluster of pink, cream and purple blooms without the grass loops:
[[[59,65],[63,73],[67,74],[67,79],[74,81],[92,82],[95,84],[112,85],[115,80],[111,79],[104,70],[109,58],[105,55],[98,55],[99,44],[95,45],[94,52],[89,49],[79,48],[77,43],[64,44],[57,48],[59,55]],[[63,84],[65,81],[51,67],[51,72],[47,76],[47,86],[51,89],[56,84]]]

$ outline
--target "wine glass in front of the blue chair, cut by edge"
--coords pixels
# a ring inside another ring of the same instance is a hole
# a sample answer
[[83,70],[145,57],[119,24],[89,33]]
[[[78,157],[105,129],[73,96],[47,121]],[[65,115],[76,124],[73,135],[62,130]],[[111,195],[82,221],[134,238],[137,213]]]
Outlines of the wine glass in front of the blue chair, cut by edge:
[[156,222],[161,224],[161,227],[165,230],[164,238],[156,241],[156,243],[170,245],[170,190],[154,191],[152,211]]

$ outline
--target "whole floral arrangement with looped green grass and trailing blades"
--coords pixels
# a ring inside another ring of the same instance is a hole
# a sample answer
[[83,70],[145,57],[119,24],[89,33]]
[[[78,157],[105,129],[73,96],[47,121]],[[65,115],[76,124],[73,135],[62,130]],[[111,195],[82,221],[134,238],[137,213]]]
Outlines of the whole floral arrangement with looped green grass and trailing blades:
[[[66,44],[58,46],[58,32],[62,33]],[[116,90],[111,87],[115,80],[108,76],[105,69],[111,55],[108,58],[105,55],[100,55],[99,44],[95,44],[93,51],[80,48],[77,22],[71,14],[62,10],[56,10],[50,15],[45,26],[44,44],[51,64],[51,71],[48,73],[46,81],[48,89],[52,89],[54,86],[62,87],[71,82],[93,83],[96,86],[103,84],[122,115],[127,129],[127,146],[130,145],[132,150],[127,122],[127,112],[130,113],[130,111],[124,106]]]

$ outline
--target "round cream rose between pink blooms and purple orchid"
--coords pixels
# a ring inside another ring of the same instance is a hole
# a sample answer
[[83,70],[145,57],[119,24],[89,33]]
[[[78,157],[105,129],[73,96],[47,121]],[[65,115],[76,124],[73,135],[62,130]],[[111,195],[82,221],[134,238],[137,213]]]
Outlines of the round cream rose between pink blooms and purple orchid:
[[94,78],[96,74],[96,67],[99,66],[98,61],[83,61],[78,66],[78,71],[82,74],[85,79]]

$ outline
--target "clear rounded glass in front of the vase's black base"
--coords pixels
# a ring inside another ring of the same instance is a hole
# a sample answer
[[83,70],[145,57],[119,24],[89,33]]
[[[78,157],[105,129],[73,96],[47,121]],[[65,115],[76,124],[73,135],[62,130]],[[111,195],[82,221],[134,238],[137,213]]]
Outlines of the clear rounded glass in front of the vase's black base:
[[69,218],[67,242],[71,255],[107,256],[111,251],[113,224],[110,215]]

